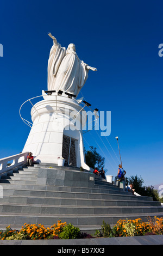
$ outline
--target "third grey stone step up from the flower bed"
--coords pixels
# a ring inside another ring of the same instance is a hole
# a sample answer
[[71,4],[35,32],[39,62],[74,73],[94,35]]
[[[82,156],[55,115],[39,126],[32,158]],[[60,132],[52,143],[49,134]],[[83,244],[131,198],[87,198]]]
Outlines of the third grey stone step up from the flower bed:
[[37,205],[87,205],[87,206],[161,206],[160,202],[136,200],[114,200],[114,199],[83,199],[67,197],[41,197],[41,196],[4,196],[0,198],[0,204],[37,204]]

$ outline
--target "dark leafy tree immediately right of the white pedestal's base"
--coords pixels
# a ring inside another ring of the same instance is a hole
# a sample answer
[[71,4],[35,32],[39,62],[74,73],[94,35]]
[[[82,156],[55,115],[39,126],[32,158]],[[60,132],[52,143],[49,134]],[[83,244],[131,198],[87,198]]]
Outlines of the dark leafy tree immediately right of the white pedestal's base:
[[98,169],[104,168],[104,161],[105,158],[97,153],[96,148],[90,146],[90,150],[85,151],[85,162],[89,167],[93,169],[95,167]]

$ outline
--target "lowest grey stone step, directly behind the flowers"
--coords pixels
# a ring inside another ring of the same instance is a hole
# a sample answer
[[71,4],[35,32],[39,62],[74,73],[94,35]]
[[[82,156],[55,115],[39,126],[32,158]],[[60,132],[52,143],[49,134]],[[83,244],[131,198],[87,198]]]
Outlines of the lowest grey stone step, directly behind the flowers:
[[[142,221],[147,222],[148,216],[154,218],[154,216],[162,217],[163,214],[158,212],[146,214],[117,214],[115,215],[41,215],[41,214],[23,214],[17,213],[16,215],[10,213],[0,213],[0,229],[5,229],[8,225],[11,225],[12,229],[21,229],[24,223],[27,224],[39,224],[45,225],[45,227],[51,227],[54,223],[57,223],[58,220],[61,222],[72,223],[77,227],[81,227],[82,231],[86,231],[87,234],[88,230],[96,231],[96,229],[101,230],[101,225],[104,220],[105,223],[110,225],[115,225],[118,220],[135,220],[136,218],[141,218]],[[94,234],[94,233],[91,233]]]

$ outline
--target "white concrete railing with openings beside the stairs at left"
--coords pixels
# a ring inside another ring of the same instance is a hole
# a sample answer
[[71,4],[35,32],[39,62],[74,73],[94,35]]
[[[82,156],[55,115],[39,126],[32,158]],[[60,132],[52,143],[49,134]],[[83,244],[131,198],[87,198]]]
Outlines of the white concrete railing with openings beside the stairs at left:
[[[0,159],[0,175],[26,163],[28,152]],[[10,162],[12,163],[10,164]],[[10,164],[10,165],[8,165]]]

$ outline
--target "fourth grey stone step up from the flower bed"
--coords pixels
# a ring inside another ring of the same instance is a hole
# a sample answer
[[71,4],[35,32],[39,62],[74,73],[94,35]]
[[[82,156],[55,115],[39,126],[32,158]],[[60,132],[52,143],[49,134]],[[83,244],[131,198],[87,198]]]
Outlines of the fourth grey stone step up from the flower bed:
[[[96,188],[64,187],[64,186],[39,186],[21,184],[2,184],[3,195],[28,195],[28,196],[48,196],[48,197],[69,197],[69,198],[89,198],[89,199],[123,199],[123,200],[146,200],[153,201],[151,197],[137,197],[129,192],[111,190],[98,190]],[[134,199],[135,200],[135,199]]]

